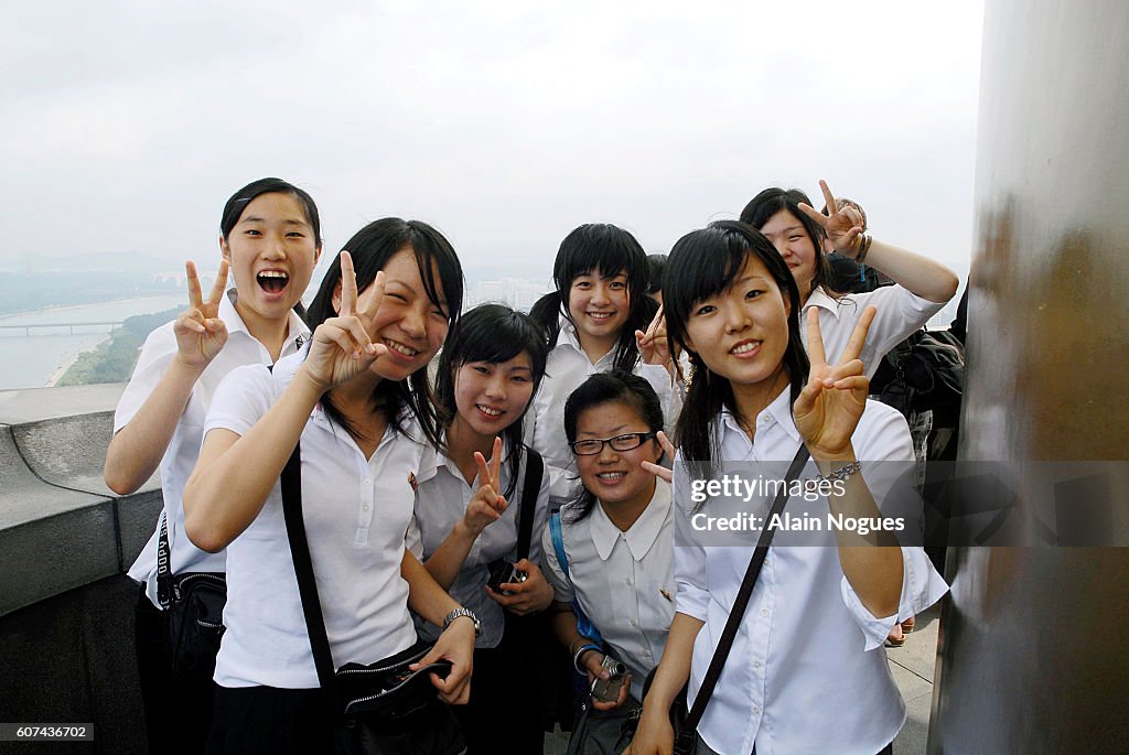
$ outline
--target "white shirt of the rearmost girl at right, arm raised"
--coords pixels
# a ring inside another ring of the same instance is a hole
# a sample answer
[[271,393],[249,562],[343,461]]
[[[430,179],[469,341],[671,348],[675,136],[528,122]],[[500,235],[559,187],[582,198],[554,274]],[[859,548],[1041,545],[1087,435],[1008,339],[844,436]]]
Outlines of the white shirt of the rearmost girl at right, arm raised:
[[820,333],[823,335],[823,350],[828,363],[834,365],[850,341],[850,334],[858,324],[858,318],[868,306],[878,311],[874,316],[870,330],[866,334],[866,343],[859,359],[866,369],[866,376],[874,374],[882,365],[882,358],[891,349],[904,341],[914,331],[920,330],[929,318],[936,315],[946,302],[922,299],[901,286],[883,286],[865,293],[848,293],[841,299],[832,299],[816,287],[804,304],[803,316],[799,319],[799,332],[807,348],[807,310],[820,308]]

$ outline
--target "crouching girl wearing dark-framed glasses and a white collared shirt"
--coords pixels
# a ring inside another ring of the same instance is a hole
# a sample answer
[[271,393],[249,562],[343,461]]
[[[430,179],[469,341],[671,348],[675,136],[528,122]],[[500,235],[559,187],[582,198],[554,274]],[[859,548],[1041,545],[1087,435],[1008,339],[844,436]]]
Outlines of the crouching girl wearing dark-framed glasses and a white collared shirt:
[[[567,568],[551,528],[542,550],[555,589],[553,629],[577,670],[587,675],[589,687],[607,681],[605,650],[628,668],[613,700],[589,701],[596,711],[638,708],[674,617],[671,486],[642,467],[663,458],[656,438],[662,429],[654,388],[628,372],[593,375],[564,405],[564,431],[583,483],[561,508]],[[598,630],[603,648],[580,634],[574,600]]]

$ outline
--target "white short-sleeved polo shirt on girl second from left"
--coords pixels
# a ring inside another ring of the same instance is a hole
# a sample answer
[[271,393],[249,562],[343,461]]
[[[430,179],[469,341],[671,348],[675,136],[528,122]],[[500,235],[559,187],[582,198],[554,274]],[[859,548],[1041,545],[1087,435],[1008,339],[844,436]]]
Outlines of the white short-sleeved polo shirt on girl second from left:
[[[204,433],[246,433],[305,355],[280,359],[273,372],[261,366],[233,371],[216,392]],[[419,434],[410,422],[403,425]],[[390,427],[367,459],[321,405],[301,431],[303,516],[334,668],[370,664],[415,642],[400,562],[425,448]],[[318,686],[278,481],[227,547],[224,625],[215,677],[220,686]]]

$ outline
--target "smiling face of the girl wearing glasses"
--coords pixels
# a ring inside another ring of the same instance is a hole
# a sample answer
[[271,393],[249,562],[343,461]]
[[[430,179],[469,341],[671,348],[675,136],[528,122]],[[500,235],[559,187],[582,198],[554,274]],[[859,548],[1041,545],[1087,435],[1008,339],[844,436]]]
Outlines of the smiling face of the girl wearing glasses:
[[[577,440],[614,438],[631,432],[650,432],[650,428],[624,401],[590,406],[577,418]],[[614,450],[611,444],[604,444],[598,454],[576,456],[576,466],[584,486],[605,506],[646,506],[655,494],[655,476],[640,464],[658,462],[662,456],[654,438],[627,451]]]

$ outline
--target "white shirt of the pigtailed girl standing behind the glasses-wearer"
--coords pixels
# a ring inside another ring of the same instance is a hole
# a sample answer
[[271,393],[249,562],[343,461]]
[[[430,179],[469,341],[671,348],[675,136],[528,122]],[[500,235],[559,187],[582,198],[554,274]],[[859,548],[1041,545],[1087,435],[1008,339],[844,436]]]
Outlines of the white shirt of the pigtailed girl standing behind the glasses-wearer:
[[[549,352],[545,376],[541,379],[541,386],[533,396],[533,406],[526,414],[525,442],[541,454],[545,464],[576,475],[576,458],[564,437],[564,402],[589,376],[611,372],[615,366],[614,355],[615,350],[612,349],[593,363],[580,348],[576,326],[561,317],[560,336],[557,345]],[[663,406],[666,432],[671,434],[682,409],[682,394],[673,389],[669,372],[664,367],[644,365],[641,361],[637,361],[631,371],[646,378],[655,388]],[[560,495],[569,492],[567,489],[553,491]]]

